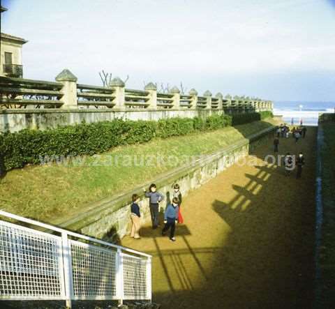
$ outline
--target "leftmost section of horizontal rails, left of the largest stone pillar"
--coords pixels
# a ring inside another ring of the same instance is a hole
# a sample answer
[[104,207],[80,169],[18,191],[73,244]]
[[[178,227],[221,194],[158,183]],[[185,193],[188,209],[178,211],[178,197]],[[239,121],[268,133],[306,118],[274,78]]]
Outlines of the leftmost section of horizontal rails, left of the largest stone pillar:
[[0,77],[0,107],[61,107],[62,86],[59,82]]

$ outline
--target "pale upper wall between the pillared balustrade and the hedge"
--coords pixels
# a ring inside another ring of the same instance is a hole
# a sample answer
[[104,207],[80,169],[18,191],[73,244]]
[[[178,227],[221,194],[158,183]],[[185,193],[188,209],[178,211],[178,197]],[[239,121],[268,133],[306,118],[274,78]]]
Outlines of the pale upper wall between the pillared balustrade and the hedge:
[[113,119],[155,120],[171,117],[209,116],[222,114],[223,110],[0,110],[0,132],[17,132],[22,129],[57,128],[57,126],[74,125],[75,123],[94,123]]

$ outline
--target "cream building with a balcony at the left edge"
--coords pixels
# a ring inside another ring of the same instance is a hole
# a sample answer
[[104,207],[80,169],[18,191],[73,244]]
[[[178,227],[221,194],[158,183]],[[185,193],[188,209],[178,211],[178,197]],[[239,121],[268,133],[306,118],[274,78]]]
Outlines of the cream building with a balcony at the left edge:
[[[6,10],[7,8],[0,7],[1,14]],[[22,45],[27,42],[24,38],[1,32],[0,76],[23,77]]]

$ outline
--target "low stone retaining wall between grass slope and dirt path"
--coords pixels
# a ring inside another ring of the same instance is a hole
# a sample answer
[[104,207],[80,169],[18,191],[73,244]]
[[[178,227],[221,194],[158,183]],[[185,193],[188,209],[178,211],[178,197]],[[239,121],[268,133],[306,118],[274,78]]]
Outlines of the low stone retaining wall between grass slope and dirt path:
[[[237,144],[225,147],[225,149],[221,149],[221,151],[211,156],[202,158],[191,167],[187,165],[174,169],[174,171],[163,174],[158,179],[152,179],[150,183],[156,183],[158,191],[163,193],[165,197],[168,193],[172,194],[173,184],[179,183],[181,193],[185,196],[190,190],[199,188],[230,167],[239,158],[246,156],[251,148],[268,142],[274,130],[276,130],[276,127],[263,130],[249,137],[249,140],[242,140]],[[149,201],[143,196],[142,191],[142,188],[148,187],[149,183],[144,183],[142,186],[117,197],[103,199],[92,204],[90,207],[91,211],[82,213],[80,216],[59,225],[67,229],[79,230],[82,234],[98,238],[103,238],[106,234],[113,233],[114,236],[122,237],[130,229],[131,195],[134,193],[142,196],[140,202],[142,224],[150,222]],[[161,204],[161,212],[165,209],[165,205],[166,200]],[[113,241],[113,238],[111,240]]]

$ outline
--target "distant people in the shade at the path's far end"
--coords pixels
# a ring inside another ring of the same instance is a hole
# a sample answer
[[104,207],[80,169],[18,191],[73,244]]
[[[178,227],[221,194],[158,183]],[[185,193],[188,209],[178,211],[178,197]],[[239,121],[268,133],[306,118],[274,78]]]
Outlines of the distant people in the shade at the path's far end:
[[[278,145],[279,145],[279,137],[286,137],[288,138],[290,133],[292,133],[292,137],[295,138],[295,142],[297,143],[299,138],[306,137],[307,128],[302,126],[302,122],[299,127],[293,127],[291,130],[286,125],[286,123],[282,123],[281,126],[278,127],[276,133],[276,137],[274,138],[274,153],[278,153]],[[302,167],[305,164],[304,153],[300,152],[298,156],[294,156],[290,153],[286,153],[284,157],[284,167],[285,167],[285,174],[287,176],[290,175],[290,172],[295,169],[295,165],[297,166],[297,179],[301,177]]]

